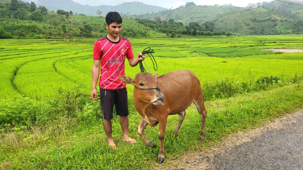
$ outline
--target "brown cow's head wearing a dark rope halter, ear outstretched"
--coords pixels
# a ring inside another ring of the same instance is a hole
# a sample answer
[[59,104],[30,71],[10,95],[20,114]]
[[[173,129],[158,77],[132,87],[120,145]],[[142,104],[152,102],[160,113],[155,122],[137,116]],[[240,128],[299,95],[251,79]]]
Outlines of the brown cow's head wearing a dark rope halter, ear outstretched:
[[119,76],[125,84],[132,84],[134,98],[144,103],[159,105],[164,101],[164,95],[157,90],[158,74],[138,73],[135,78]]

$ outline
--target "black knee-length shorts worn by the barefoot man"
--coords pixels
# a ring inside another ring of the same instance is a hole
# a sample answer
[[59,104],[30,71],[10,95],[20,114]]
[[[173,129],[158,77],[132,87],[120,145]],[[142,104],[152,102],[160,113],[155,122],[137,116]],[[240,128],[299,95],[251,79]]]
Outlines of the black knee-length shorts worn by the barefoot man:
[[100,88],[100,103],[103,119],[111,120],[113,118],[114,104],[116,108],[116,115],[128,116],[126,87],[115,90]]

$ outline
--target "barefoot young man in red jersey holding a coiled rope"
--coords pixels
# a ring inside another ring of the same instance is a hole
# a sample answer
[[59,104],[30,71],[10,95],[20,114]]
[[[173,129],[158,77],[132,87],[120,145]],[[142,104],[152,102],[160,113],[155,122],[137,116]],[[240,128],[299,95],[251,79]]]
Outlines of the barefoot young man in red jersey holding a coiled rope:
[[93,100],[97,100],[96,85],[100,72],[99,87],[103,126],[108,139],[108,145],[115,150],[116,145],[112,138],[111,122],[114,104],[122,126],[123,141],[130,143],[137,142],[135,139],[128,137],[126,84],[124,84],[118,76],[125,75],[126,58],[128,59],[129,65],[135,67],[140,60],[144,60],[145,54],[142,55],[142,53],[139,53],[138,58],[134,58],[131,43],[128,39],[119,36],[122,28],[122,18],[118,12],[108,12],[105,21],[108,35],[98,39],[94,44],[91,96]]

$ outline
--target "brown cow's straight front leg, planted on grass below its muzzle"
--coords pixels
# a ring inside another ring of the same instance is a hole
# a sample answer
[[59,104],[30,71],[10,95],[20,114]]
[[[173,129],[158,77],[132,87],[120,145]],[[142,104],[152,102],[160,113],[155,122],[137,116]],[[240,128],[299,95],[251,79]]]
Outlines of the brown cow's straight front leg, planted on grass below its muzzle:
[[159,132],[158,138],[160,139],[160,149],[158,155],[158,162],[161,164],[164,161],[164,136],[165,136],[165,128],[167,123],[167,117],[160,118],[159,121]]

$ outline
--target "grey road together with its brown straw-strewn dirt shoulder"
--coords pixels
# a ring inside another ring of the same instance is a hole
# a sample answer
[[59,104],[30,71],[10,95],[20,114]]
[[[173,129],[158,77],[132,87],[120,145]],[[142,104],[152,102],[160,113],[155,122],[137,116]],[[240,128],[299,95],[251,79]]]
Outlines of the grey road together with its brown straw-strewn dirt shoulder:
[[239,132],[217,148],[180,159],[178,167],[166,169],[303,169],[303,111]]

